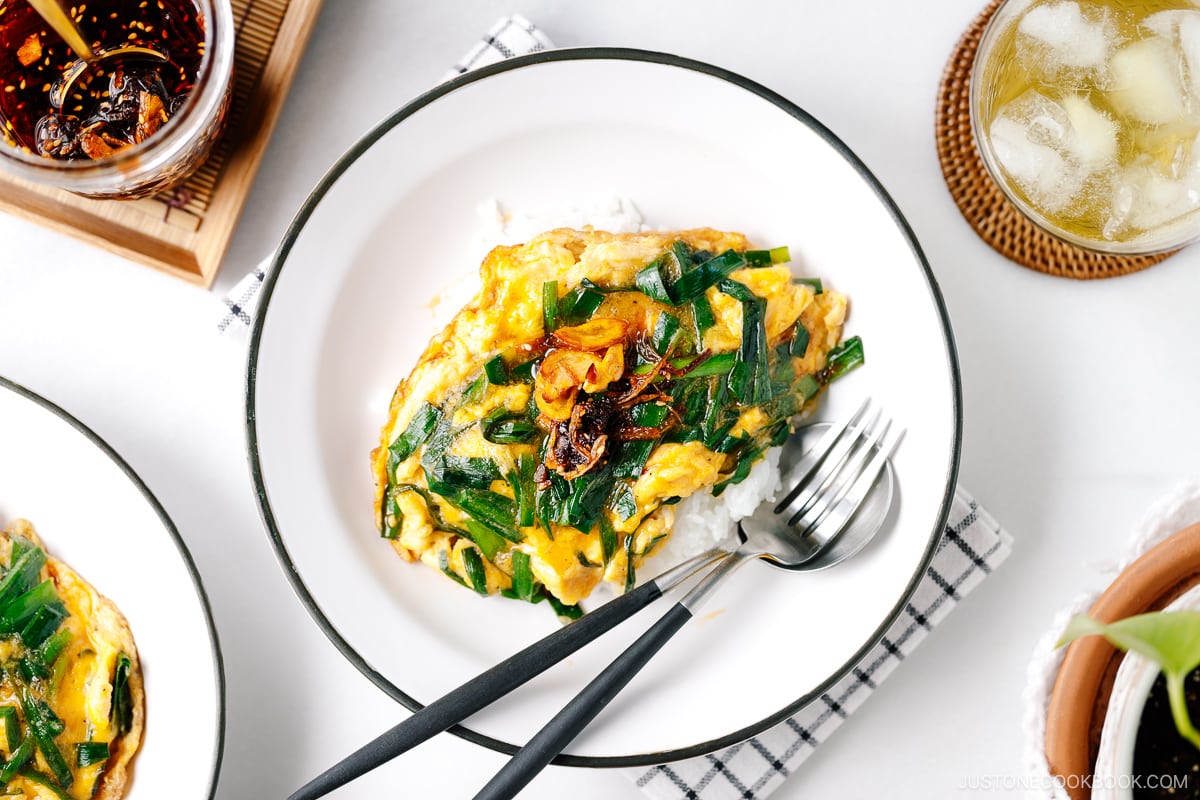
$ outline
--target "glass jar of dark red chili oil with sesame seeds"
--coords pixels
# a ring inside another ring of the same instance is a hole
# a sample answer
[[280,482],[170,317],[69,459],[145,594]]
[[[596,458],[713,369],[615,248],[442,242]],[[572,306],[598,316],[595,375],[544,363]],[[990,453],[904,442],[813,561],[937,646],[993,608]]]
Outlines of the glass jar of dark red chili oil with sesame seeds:
[[62,7],[89,58],[26,0],[0,0],[0,168],[97,198],[145,197],[186,179],[229,108],[229,0]]

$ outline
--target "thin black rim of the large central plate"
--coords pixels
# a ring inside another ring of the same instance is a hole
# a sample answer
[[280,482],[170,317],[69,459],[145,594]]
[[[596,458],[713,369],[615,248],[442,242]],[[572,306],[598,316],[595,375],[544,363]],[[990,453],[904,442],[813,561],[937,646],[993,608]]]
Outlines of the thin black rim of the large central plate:
[[[540,50],[530,53],[528,55],[517,55],[497,64],[478,67],[469,72],[458,74],[449,80],[445,80],[437,86],[422,92],[418,97],[413,98],[408,103],[404,103],[395,112],[388,114],[382,121],[377,122],[366,133],[364,133],[353,145],[350,145],[334,164],[325,172],[320,180],[316,184],[308,197],[300,205],[292,222],[288,224],[283,237],[280,240],[280,245],[271,257],[270,265],[265,270],[263,277],[263,285],[259,290],[259,300],[253,313],[252,326],[250,331],[250,343],[246,354],[246,447],[247,447],[247,462],[250,465],[251,479],[254,483],[254,497],[258,504],[259,516],[262,517],[263,525],[266,528],[268,537],[270,539],[271,547],[275,551],[276,559],[280,563],[281,569],[284,572],[288,582],[292,584],[292,589],[295,591],[296,597],[300,600],[301,604],[308,610],[310,616],[322,630],[330,643],[342,654],[342,656],[353,664],[364,676],[366,676],[371,682],[376,685],[377,688],[383,691],[385,694],[391,697],[394,700],[398,702],[410,711],[419,711],[424,708],[424,704],[418,702],[415,698],[407,694],[403,690],[391,682],[383,673],[374,669],[367,661],[360,655],[349,642],[341,634],[341,632],[332,625],[328,616],[320,608],[316,597],[308,591],[307,585],[301,578],[295,563],[292,560],[292,555],[288,552],[287,545],[283,541],[280,528],[275,522],[275,515],[271,510],[270,500],[266,495],[266,485],[263,479],[262,461],[258,451],[258,431],[257,431],[257,386],[256,375],[258,368],[258,355],[259,345],[263,336],[263,327],[266,320],[266,312],[270,308],[271,296],[275,291],[275,284],[278,281],[280,275],[287,264],[288,254],[292,247],[295,245],[296,239],[304,230],[305,224],[308,218],[316,211],[317,206],[320,204],[322,199],[329,193],[337,180],[361,157],[367,150],[370,150],[374,144],[377,144],[386,133],[392,128],[402,124],[406,119],[421,110],[426,106],[438,101],[439,98],[449,95],[466,85],[486,80],[487,78],[505,72],[511,72],[515,70],[521,70],[528,66],[553,64],[553,62],[568,62],[568,61],[635,61],[642,64],[653,64],[656,66],[667,66],[683,70],[690,70],[701,74],[706,74],[713,78],[725,80],[726,83],[733,84],[745,91],[749,91],[761,100],[764,100],[774,104],[780,110],[787,113],[794,120],[805,125],[810,131],[816,133],[821,139],[832,146],[838,155],[846,160],[846,162],[858,173],[859,178],[868,185],[868,187],[875,193],[876,198],[883,204],[888,215],[892,217],[893,222],[899,228],[902,234],[905,242],[916,257],[922,272],[925,277],[926,288],[930,294],[930,299],[934,301],[934,306],[937,311],[938,321],[942,327],[942,339],[946,348],[946,360],[949,368],[950,383],[952,383],[952,404],[954,414],[954,434],[953,434],[953,446],[950,453],[950,463],[947,469],[946,475],[946,492],[942,495],[941,509],[937,513],[936,522],[932,530],[929,534],[929,542],[925,546],[925,551],[922,554],[920,563],[917,569],[910,576],[908,582],[905,584],[904,591],[899,596],[896,603],[893,606],[890,612],[884,616],[880,626],[868,637],[866,642],[856,650],[851,657],[844,662],[838,669],[835,669],[829,678],[822,681],[811,691],[806,692],[802,697],[797,698],[794,702],[790,703],[785,708],[780,709],[775,714],[772,714],[762,720],[745,726],[738,730],[734,730],[724,736],[716,739],[710,739],[708,741],[698,742],[688,747],[677,747],[673,750],[655,751],[648,753],[637,753],[630,756],[574,756],[570,753],[560,753],[557,756],[553,764],[563,766],[589,766],[589,768],[626,768],[626,766],[652,766],[655,764],[662,764],[666,762],[676,762],[685,758],[694,758],[697,756],[704,756],[708,753],[716,752],[725,747],[736,745],[740,741],[745,741],[751,736],[755,736],[769,728],[779,724],[784,720],[794,715],[802,708],[818,698],[822,693],[828,691],[833,685],[847,675],[851,669],[857,666],[863,657],[884,637],[887,631],[892,625],[900,618],[904,613],[905,606],[912,599],[925,576],[926,570],[932,563],[934,554],[937,552],[937,546],[942,540],[943,533],[946,530],[946,523],[949,518],[950,506],[954,499],[954,493],[958,486],[958,474],[959,465],[961,461],[961,449],[962,449],[962,379],[959,368],[958,348],[954,339],[954,330],[950,326],[949,313],[946,308],[946,302],[942,297],[941,288],[938,287],[937,278],[935,277],[932,269],[929,265],[929,260],[925,257],[924,251],[917,240],[916,233],[908,224],[900,207],[896,205],[895,200],[883,187],[883,184],[875,176],[874,173],[866,167],[866,164],[859,158],[833,131],[826,127],[811,114],[805,112],[798,104],[787,100],[782,95],[768,89],[767,86],[751,80],[742,74],[726,70],[724,67],[718,67],[704,61],[698,61],[696,59],[690,59],[682,55],[674,55],[671,53],[662,53],[658,50],[646,50],[637,48],[623,48],[623,47],[577,47],[577,48],[559,48],[553,50]],[[493,736],[481,734],[476,730],[472,730],[464,726],[454,726],[449,729],[450,733],[466,739],[467,741],[488,747],[491,750],[514,754],[520,750],[518,745],[514,745],[506,741],[502,741]]]

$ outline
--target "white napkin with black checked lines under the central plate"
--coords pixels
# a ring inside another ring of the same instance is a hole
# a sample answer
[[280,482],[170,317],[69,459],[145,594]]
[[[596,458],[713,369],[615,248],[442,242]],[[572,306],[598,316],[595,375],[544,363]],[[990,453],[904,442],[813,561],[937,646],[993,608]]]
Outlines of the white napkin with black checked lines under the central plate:
[[[552,47],[529,20],[506,17],[446,77]],[[218,325],[223,333],[246,336],[265,269],[265,264],[259,266],[226,295],[226,314]],[[1010,549],[1012,537],[959,489],[925,579],[895,625],[850,674],[799,714],[749,741],[712,756],[628,770],[630,778],[655,800],[762,800],[841,727]]]

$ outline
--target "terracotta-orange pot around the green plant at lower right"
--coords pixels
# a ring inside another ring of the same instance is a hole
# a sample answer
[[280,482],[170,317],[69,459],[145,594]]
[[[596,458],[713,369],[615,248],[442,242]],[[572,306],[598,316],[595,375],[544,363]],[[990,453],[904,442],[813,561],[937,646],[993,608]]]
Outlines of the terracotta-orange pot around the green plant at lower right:
[[[1104,622],[1159,610],[1200,584],[1200,524],[1171,534],[1130,564],[1088,613]],[[1067,648],[1046,709],[1045,754],[1050,774],[1072,800],[1088,800],[1100,730],[1112,681],[1124,654],[1090,636]]]

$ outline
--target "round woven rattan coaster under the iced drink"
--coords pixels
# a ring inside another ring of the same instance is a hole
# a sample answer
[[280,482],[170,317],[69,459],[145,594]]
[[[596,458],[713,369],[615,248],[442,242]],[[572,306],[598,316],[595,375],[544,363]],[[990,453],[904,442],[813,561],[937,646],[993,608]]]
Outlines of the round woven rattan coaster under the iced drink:
[[991,180],[971,133],[971,66],[992,0],[959,40],[937,92],[937,157],[954,203],[979,237],[1001,255],[1031,270],[1068,278],[1110,278],[1153,266],[1178,251],[1153,255],[1105,255],[1074,247],[1033,224]]

